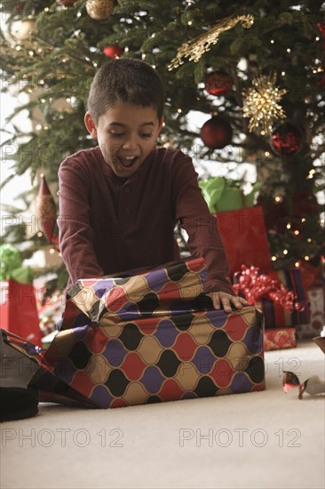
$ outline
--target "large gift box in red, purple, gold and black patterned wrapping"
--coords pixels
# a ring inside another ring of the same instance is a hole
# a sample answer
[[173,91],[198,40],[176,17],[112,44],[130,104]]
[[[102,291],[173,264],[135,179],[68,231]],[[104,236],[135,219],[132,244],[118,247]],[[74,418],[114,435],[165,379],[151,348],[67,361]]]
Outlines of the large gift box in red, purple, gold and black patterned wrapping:
[[265,389],[263,315],[213,309],[204,271],[197,259],[79,280],[49,349],[5,339],[40,365],[29,385],[42,400],[108,408]]

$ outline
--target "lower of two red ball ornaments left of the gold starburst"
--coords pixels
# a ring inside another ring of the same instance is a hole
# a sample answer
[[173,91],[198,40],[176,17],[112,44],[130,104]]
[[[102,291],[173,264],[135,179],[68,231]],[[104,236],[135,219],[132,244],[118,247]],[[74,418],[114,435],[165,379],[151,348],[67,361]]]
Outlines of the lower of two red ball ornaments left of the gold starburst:
[[225,148],[231,143],[232,137],[232,126],[221,116],[213,116],[202,125],[201,139],[208,148]]

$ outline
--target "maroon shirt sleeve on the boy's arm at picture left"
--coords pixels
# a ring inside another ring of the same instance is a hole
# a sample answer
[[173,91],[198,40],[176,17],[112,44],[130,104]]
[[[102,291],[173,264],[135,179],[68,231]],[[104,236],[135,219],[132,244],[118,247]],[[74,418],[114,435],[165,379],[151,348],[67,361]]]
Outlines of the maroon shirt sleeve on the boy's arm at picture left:
[[93,249],[88,202],[88,175],[82,158],[71,156],[59,167],[59,249],[69,274],[68,285],[79,278],[104,275]]

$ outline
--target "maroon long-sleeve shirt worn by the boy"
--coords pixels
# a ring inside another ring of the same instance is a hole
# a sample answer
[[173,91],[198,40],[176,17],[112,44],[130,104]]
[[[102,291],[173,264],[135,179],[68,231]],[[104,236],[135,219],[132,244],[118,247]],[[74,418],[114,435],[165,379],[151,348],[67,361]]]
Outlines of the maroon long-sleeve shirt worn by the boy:
[[68,156],[59,167],[59,246],[67,287],[79,278],[178,260],[178,220],[190,253],[206,263],[204,292],[233,293],[216,220],[189,156],[155,148],[128,179],[115,175],[99,146]]

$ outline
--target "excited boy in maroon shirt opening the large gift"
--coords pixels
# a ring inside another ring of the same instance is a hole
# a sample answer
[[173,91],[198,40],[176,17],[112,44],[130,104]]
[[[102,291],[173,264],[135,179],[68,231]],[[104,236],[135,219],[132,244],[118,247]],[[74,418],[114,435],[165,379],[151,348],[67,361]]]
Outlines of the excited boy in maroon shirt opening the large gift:
[[163,84],[144,61],[107,62],[94,77],[84,123],[95,148],[68,156],[59,168],[59,245],[67,287],[79,278],[179,260],[178,220],[194,257],[207,267],[204,292],[227,312],[247,301],[226,279],[226,254],[192,160],[157,148],[163,126]]

